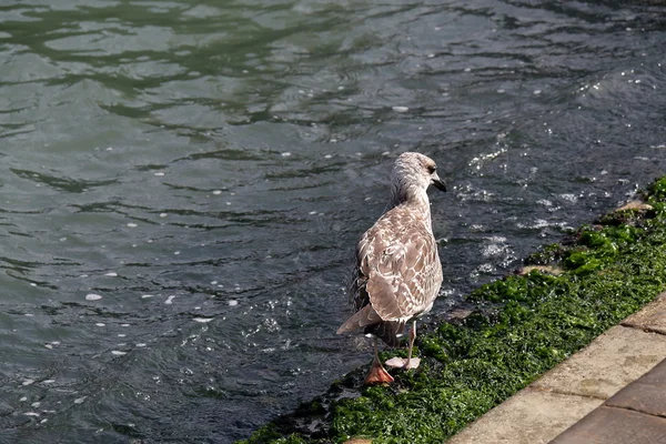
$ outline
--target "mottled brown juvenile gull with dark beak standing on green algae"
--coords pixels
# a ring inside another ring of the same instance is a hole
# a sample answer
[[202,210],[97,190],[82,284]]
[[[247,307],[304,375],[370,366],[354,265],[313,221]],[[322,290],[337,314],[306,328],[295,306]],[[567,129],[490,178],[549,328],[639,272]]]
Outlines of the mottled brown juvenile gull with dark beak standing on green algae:
[[416,369],[421,363],[412,357],[416,319],[431,311],[442,285],[442,263],[426,193],[431,185],[446,191],[435,162],[416,152],[401,154],[391,173],[391,203],[356,244],[350,284],[355,314],[337,329],[337,334],[364,333],[373,339],[374,360],[365,384],[393,382],[380,361],[377,337],[396,346],[397,336],[410,321],[407,359],[393,357],[386,365]]

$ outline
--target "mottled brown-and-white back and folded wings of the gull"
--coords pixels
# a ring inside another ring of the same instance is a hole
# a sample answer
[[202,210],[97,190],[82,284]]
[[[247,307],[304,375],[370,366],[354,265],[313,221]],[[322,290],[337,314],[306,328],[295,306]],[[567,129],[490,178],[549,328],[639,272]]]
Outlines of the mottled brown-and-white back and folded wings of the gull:
[[437,245],[420,223],[369,231],[360,242],[360,274],[384,321],[411,317],[431,305],[442,283]]

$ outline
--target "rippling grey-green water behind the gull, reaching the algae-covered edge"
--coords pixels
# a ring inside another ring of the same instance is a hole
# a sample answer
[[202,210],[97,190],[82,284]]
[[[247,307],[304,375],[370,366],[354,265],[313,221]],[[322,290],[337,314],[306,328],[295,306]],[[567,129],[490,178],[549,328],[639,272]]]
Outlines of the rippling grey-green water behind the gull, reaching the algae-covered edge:
[[654,1],[6,0],[0,442],[248,436],[369,361],[400,152],[437,315],[666,173],[665,49]]

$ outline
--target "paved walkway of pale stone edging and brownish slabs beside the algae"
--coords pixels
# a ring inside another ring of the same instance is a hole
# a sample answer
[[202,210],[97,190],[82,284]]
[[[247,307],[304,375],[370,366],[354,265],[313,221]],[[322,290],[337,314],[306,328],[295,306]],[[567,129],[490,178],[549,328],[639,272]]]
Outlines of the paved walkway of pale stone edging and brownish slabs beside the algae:
[[665,360],[662,293],[448,444],[666,443]]

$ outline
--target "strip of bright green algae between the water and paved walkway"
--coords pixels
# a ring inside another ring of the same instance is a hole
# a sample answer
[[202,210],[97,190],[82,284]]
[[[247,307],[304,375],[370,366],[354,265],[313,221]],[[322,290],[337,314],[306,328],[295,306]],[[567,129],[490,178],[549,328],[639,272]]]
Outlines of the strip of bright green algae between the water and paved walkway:
[[422,329],[418,370],[361,387],[357,369],[245,443],[447,440],[666,289],[666,176],[640,199],[473,291],[464,320]]

